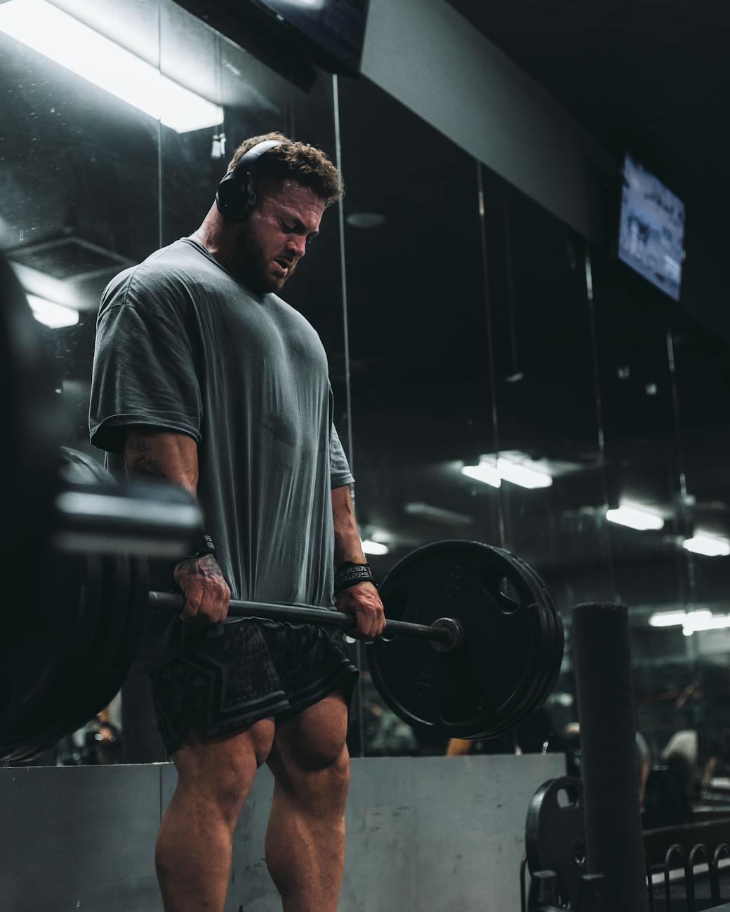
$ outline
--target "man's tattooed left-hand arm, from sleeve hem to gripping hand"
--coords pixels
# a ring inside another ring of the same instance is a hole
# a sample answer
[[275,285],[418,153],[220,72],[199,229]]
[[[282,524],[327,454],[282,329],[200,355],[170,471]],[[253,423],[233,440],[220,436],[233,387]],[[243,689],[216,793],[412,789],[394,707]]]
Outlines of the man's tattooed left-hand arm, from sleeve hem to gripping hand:
[[[128,428],[124,467],[128,478],[172,482],[196,496],[198,445],[188,434],[144,425]],[[231,590],[212,554],[185,558],[175,566],[173,578],[185,596],[184,621],[207,624],[226,617]]]

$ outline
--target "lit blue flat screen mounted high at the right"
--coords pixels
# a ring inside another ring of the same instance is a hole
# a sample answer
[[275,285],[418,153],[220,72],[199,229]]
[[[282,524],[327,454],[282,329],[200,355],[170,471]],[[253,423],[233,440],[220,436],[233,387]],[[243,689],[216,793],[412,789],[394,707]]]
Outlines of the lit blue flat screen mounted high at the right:
[[683,242],[684,203],[627,152],[620,205],[620,260],[678,301]]

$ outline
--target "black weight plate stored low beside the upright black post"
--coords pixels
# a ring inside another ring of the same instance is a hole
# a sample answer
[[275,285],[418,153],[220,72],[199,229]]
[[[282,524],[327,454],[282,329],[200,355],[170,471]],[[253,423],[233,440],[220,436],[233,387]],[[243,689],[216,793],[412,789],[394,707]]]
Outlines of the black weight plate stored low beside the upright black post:
[[583,785],[561,776],[537,789],[527,810],[525,848],[530,873],[554,871],[558,897],[576,908],[580,878],[586,873]]

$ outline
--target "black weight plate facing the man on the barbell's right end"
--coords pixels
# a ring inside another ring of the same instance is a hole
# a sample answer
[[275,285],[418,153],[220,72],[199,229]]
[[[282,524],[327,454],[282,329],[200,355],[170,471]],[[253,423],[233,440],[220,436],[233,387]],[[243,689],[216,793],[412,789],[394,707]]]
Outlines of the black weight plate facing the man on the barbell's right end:
[[[514,597],[501,591],[506,579]],[[455,617],[464,643],[438,653],[408,637],[373,642],[370,673],[383,700],[416,728],[476,737],[514,721],[534,695],[545,611],[534,584],[504,554],[479,542],[426,545],[381,585],[386,617],[431,624]]]

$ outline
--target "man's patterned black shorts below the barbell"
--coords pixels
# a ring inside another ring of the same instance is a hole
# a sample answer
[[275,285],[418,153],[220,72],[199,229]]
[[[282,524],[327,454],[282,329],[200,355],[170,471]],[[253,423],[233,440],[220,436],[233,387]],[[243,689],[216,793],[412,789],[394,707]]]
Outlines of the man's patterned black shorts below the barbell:
[[341,631],[257,619],[187,632],[183,655],[150,678],[172,754],[191,728],[234,734],[257,720],[287,719],[335,691],[349,704],[358,674]]

